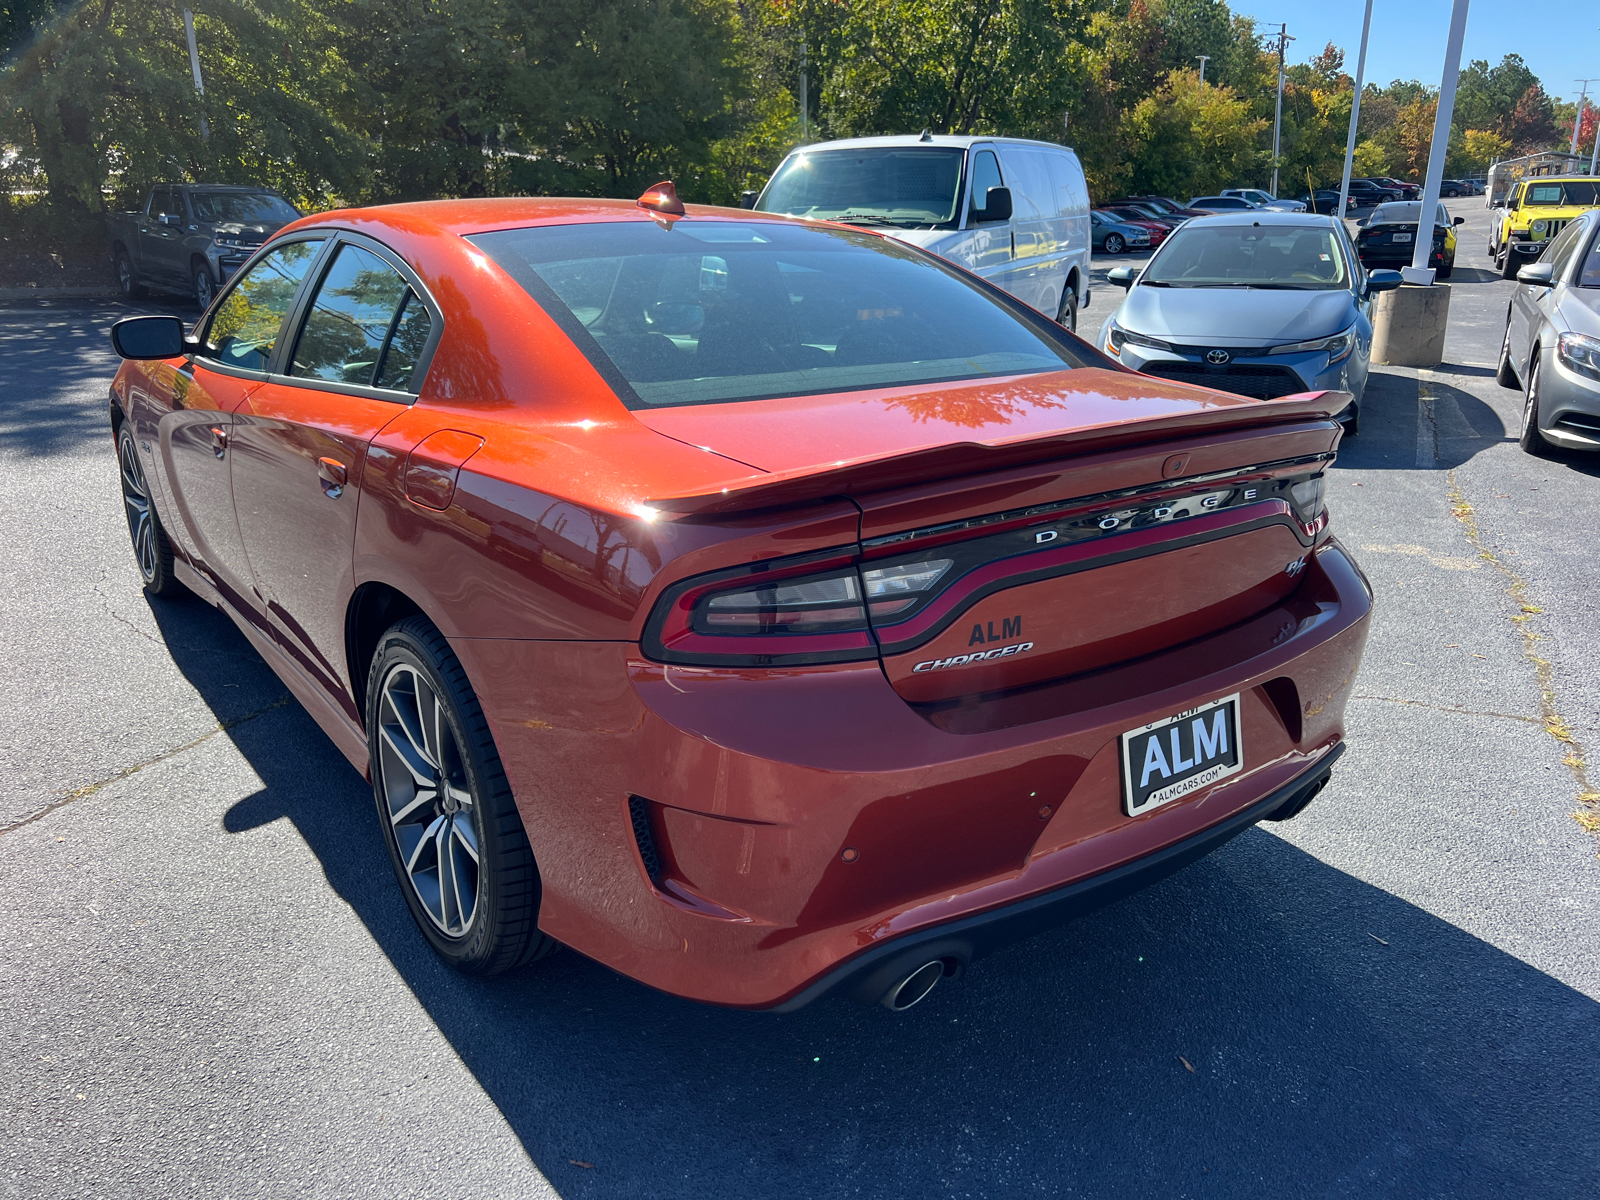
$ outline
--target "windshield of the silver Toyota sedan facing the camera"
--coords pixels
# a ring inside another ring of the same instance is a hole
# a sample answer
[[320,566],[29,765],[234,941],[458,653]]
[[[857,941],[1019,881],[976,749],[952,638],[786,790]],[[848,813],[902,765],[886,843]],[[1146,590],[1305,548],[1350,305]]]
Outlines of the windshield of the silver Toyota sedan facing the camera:
[[1350,280],[1331,229],[1182,226],[1166,238],[1139,285],[1331,291],[1347,288]]

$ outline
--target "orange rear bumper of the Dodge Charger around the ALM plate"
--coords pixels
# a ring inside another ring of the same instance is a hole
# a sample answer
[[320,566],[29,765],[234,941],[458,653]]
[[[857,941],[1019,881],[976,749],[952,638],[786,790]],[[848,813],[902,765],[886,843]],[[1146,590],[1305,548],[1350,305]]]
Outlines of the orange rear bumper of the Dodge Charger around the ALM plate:
[[[539,926],[661,990],[789,1010],[939,938],[957,942],[931,957],[962,962],[1282,808],[1344,738],[1370,613],[1328,539],[1250,619],[938,710],[901,699],[875,661],[701,669],[630,643],[453,645],[539,864]],[[1125,816],[1118,736],[1232,693],[1245,770]]]

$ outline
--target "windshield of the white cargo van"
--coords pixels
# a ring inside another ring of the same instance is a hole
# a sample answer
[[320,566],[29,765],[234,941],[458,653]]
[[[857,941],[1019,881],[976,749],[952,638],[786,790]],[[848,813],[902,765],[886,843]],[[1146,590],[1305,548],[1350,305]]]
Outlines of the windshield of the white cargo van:
[[965,150],[947,146],[792,154],[757,208],[853,226],[954,229],[963,157]]

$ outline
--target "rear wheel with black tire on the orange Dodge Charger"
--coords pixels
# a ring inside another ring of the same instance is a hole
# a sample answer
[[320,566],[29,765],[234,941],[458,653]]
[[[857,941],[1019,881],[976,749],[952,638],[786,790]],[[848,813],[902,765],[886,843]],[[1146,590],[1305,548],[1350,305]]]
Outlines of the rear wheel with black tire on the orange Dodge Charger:
[[539,870],[488,720],[461,661],[426,618],[408,618],[378,642],[366,746],[400,891],[438,957],[462,974],[490,976],[555,949],[539,933]]

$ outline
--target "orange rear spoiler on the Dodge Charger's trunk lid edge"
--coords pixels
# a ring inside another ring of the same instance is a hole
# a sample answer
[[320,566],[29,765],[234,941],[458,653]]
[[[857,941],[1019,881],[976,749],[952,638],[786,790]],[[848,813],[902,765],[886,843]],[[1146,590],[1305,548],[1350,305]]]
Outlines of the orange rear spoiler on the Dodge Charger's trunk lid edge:
[[1301,392],[1277,400],[1142,421],[1120,421],[1112,426],[1086,426],[994,442],[950,442],[902,454],[845,459],[824,469],[800,467],[763,475],[742,475],[709,491],[661,496],[645,501],[645,504],[658,512],[709,517],[805,504],[829,496],[862,496],[912,483],[933,483],[958,475],[979,475],[1029,462],[1045,462],[1069,453],[1165,442],[1218,429],[1333,418],[1344,411],[1350,400],[1349,392]]

